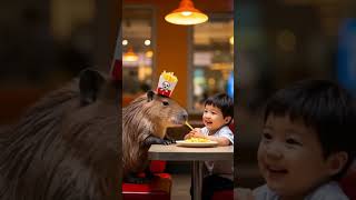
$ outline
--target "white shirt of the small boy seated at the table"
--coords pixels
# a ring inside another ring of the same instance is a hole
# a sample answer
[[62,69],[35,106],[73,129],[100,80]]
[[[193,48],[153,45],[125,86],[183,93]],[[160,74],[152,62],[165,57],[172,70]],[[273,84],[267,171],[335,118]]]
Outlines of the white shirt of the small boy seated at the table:
[[[209,130],[206,127],[204,127],[201,128],[201,133],[205,136],[225,137],[231,142],[231,144],[234,144],[234,133],[227,126],[221,127],[214,134],[209,134]],[[206,161],[205,166],[207,167],[210,174],[215,173],[233,180],[233,172],[234,172],[233,160]]]

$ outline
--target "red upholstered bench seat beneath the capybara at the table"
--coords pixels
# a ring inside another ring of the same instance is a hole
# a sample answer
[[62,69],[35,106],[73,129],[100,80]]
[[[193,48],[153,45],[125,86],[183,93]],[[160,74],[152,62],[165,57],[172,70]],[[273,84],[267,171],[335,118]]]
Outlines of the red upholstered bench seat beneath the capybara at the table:
[[166,161],[151,161],[150,170],[155,173],[151,182],[145,184],[122,183],[123,200],[170,200],[171,176],[164,173]]

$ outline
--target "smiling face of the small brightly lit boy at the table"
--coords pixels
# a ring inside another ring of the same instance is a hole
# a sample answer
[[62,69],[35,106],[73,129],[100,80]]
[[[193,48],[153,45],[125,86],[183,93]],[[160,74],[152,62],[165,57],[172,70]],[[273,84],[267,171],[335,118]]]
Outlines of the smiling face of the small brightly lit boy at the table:
[[228,117],[224,118],[219,108],[206,104],[202,113],[202,122],[209,130],[217,130],[228,122]]

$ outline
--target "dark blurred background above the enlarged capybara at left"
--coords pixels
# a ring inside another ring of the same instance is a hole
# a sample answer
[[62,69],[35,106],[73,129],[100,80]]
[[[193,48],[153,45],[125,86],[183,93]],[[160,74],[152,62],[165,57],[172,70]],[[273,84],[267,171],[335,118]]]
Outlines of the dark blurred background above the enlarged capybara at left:
[[12,0],[0,11],[0,130],[83,68],[109,72],[117,0]]

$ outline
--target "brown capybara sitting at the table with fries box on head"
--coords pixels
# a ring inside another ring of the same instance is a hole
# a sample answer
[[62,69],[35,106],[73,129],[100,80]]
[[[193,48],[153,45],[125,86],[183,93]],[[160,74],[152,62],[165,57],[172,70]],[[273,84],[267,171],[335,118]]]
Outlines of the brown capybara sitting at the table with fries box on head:
[[[148,169],[148,149],[151,144],[170,144],[168,127],[182,126],[187,111],[170,98],[148,91],[122,109],[123,181],[141,183],[147,179],[136,174]],[[149,171],[147,178],[150,178]]]

